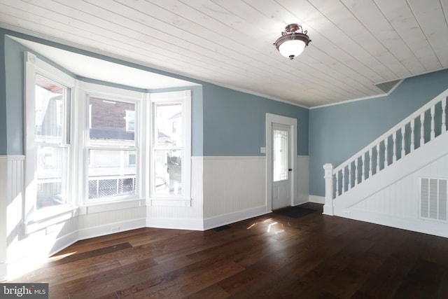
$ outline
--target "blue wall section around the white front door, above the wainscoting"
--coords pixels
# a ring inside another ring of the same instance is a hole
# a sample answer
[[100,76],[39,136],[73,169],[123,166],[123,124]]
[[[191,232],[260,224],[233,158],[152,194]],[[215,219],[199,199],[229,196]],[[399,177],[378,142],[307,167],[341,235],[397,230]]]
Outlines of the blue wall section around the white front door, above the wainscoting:
[[297,154],[308,155],[309,110],[203,83],[204,155],[265,155],[266,113],[297,118]]

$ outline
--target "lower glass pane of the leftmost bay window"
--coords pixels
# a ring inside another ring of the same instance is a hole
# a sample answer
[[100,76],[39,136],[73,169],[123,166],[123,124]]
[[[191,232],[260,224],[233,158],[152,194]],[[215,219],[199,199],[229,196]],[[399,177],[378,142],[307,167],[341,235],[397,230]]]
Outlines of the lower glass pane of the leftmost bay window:
[[37,209],[66,203],[67,151],[67,148],[37,147]]

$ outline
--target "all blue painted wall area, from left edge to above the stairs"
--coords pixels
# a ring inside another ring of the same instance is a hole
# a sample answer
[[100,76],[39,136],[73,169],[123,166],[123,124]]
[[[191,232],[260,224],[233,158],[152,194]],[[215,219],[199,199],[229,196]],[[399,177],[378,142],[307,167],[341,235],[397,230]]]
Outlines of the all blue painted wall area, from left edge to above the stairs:
[[448,88],[448,71],[437,71],[407,79],[387,97],[309,110],[0,29],[0,154],[21,155],[24,147],[26,48],[5,34],[201,84],[192,88],[195,156],[264,155],[265,114],[297,118],[297,155],[309,155],[309,190],[318,196],[324,195],[323,164],[343,162]]

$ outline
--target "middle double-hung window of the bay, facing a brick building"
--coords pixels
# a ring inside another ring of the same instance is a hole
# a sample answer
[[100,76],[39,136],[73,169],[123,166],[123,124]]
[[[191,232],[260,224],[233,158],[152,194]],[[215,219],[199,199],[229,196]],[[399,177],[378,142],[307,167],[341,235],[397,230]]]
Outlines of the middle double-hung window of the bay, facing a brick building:
[[88,92],[86,102],[86,202],[137,197],[139,103]]

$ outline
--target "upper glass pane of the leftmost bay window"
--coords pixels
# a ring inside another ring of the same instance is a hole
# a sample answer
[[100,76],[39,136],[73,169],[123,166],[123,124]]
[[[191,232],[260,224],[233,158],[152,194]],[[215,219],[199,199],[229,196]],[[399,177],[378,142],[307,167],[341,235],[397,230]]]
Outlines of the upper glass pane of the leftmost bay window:
[[64,97],[68,88],[36,76],[35,126],[36,141],[62,144],[64,130]]

